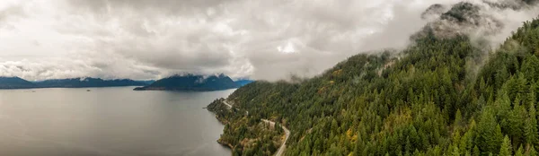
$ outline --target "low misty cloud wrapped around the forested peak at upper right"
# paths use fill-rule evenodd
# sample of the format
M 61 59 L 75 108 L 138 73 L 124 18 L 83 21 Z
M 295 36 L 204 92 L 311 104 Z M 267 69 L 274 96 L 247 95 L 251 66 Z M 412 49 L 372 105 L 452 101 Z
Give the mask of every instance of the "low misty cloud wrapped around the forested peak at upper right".
M 539 14 L 537 5 L 523 1 L 471 1 L 450 8 L 429 22 L 426 29 L 433 30 L 440 38 L 468 35 L 474 41 L 490 43 L 490 48 L 496 48 L 522 22 Z

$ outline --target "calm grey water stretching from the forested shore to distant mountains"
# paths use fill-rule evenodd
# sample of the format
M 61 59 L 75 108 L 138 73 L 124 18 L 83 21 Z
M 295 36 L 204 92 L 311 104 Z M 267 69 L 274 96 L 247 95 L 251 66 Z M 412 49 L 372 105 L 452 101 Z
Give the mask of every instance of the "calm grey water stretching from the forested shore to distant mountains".
M 203 108 L 234 90 L 132 89 L 0 91 L 0 155 L 230 155 Z

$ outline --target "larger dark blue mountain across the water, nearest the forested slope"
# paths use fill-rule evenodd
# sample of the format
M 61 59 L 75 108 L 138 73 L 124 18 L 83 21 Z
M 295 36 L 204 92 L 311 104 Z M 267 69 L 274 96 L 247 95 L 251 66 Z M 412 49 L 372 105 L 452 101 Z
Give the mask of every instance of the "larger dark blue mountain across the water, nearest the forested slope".
M 239 88 L 249 82 L 243 80 L 234 82 L 225 74 L 219 75 L 174 75 L 158 80 L 145 87 L 138 87 L 135 91 L 219 91 Z

